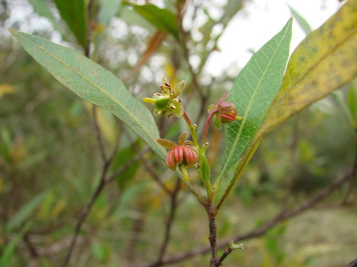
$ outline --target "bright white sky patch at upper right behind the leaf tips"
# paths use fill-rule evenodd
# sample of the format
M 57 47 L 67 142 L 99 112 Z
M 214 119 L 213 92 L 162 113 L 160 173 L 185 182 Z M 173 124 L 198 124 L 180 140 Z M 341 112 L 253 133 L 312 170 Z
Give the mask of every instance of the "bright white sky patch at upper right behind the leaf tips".
M 228 24 L 218 42 L 221 51 L 214 51 L 206 64 L 210 76 L 220 76 L 227 67 L 233 73 L 249 61 L 252 53 L 284 27 L 291 17 L 287 4 L 305 18 L 313 29 L 318 28 L 339 7 L 337 0 L 252 0 L 244 11 L 240 11 Z M 294 20 L 290 53 L 305 38 L 305 34 Z

